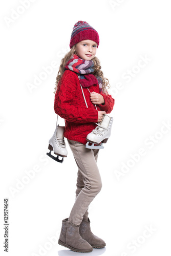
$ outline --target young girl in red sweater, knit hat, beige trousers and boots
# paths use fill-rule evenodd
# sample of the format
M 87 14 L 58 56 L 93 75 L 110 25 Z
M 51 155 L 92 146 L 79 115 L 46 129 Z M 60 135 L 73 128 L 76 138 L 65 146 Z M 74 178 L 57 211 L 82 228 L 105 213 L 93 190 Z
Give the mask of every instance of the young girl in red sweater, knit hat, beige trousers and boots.
M 65 118 L 63 135 L 78 166 L 76 200 L 69 218 L 62 221 L 58 243 L 77 252 L 91 252 L 93 248 L 105 246 L 105 242 L 91 232 L 88 218 L 88 207 L 102 186 L 97 167 L 99 150 L 85 146 L 87 135 L 97 126 L 95 123 L 114 106 L 114 99 L 106 91 L 109 80 L 103 76 L 100 61 L 95 57 L 98 46 L 97 31 L 87 22 L 78 21 L 71 34 L 71 50 L 61 60 L 56 77 L 54 110 Z M 99 225 L 101 218 L 98 217 Z

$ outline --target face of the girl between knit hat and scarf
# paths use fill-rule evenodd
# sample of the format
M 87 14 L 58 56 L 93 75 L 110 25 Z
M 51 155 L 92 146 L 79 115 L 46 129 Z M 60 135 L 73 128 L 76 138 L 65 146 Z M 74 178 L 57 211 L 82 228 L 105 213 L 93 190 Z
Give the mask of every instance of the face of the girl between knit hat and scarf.
M 76 44 L 76 54 L 84 60 L 91 60 L 95 57 L 97 43 L 92 40 L 82 40 Z

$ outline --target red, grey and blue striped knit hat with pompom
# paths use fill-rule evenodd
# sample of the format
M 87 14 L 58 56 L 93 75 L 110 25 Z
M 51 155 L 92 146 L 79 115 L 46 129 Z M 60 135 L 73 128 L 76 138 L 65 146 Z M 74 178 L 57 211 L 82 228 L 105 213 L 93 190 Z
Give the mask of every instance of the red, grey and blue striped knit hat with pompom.
M 90 39 L 97 43 L 97 48 L 99 46 L 99 35 L 97 31 L 92 28 L 87 22 L 82 22 L 79 20 L 75 23 L 70 40 L 70 49 L 73 45 L 77 44 L 82 40 Z

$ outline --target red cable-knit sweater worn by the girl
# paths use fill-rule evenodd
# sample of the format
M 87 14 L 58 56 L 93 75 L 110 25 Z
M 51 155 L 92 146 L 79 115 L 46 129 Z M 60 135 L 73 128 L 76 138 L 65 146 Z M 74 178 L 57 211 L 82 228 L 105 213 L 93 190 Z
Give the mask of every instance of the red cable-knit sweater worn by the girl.
M 99 86 L 89 87 L 90 92 L 99 93 Z M 111 95 L 100 93 L 104 97 L 104 104 L 99 104 L 97 110 L 90 99 L 90 92 L 83 88 L 84 95 L 88 104 L 84 102 L 79 78 L 73 71 L 66 70 L 59 80 L 55 93 L 54 110 L 60 117 L 65 118 L 64 136 L 69 140 L 87 143 L 86 137 L 95 129 L 98 120 L 98 111 L 110 113 L 113 110 L 115 100 Z

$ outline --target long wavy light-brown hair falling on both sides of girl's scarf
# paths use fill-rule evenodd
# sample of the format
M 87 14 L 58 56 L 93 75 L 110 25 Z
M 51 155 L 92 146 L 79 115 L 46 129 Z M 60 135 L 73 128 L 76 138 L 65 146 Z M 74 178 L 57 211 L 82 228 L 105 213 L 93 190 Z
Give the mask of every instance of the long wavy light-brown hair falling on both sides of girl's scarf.
M 76 45 L 74 45 L 71 48 L 71 50 L 61 59 L 59 71 L 58 71 L 57 77 L 56 77 L 56 82 L 55 82 L 56 87 L 54 88 L 55 89 L 54 93 L 56 93 L 59 80 L 60 80 L 63 72 L 65 71 L 66 63 L 69 61 L 69 59 L 71 59 L 73 54 L 76 54 L 75 52 L 76 52 Z M 103 72 L 101 71 L 100 60 L 97 57 L 94 57 L 92 60 L 94 61 L 94 67 L 93 67 L 94 71 L 92 72 L 92 74 L 95 77 L 97 77 L 97 76 L 101 77 L 102 93 L 108 95 L 107 89 L 110 88 L 110 83 L 109 83 L 108 78 L 104 77 Z

